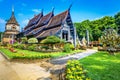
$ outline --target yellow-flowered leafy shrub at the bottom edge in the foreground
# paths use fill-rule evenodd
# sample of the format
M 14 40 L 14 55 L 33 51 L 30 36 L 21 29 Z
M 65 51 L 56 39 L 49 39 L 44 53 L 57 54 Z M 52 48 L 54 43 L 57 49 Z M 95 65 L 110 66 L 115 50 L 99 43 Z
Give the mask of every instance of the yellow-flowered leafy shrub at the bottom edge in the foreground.
M 66 80 L 91 80 L 77 60 L 68 61 L 66 68 Z

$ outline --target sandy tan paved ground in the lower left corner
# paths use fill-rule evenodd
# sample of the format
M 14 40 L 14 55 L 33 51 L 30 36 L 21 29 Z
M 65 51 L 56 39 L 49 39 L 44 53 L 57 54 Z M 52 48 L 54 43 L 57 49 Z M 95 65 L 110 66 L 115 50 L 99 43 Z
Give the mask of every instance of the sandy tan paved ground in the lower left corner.
M 50 72 L 41 68 L 39 63 L 9 62 L 0 53 L 0 80 L 40 80 L 49 76 Z

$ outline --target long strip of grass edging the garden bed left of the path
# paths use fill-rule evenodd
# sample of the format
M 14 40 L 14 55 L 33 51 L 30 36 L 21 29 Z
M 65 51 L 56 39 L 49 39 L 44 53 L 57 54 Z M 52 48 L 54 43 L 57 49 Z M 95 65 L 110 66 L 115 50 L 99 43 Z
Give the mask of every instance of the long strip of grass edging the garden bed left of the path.
M 42 52 L 35 52 L 35 51 L 21 50 L 21 49 L 15 49 L 15 50 L 17 50 L 17 52 L 13 53 L 8 49 L 0 48 L 0 51 L 2 51 L 10 59 L 57 58 L 57 57 L 62 57 L 62 56 L 66 56 L 68 54 L 73 54 L 73 53 L 77 53 L 77 52 L 82 51 L 82 50 L 75 50 L 75 51 L 71 51 L 70 53 L 66 53 L 66 52 L 42 53 Z

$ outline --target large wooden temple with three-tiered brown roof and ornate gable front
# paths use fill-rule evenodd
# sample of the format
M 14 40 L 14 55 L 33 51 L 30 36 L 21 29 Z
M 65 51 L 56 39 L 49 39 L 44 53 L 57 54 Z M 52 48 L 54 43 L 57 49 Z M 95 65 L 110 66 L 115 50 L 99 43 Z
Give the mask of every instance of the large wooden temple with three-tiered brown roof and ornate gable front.
M 71 19 L 70 8 L 57 15 L 54 15 L 54 9 L 46 15 L 43 15 L 42 10 L 29 20 L 23 33 L 27 38 L 35 37 L 38 41 L 54 35 L 76 45 L 76 29 Z

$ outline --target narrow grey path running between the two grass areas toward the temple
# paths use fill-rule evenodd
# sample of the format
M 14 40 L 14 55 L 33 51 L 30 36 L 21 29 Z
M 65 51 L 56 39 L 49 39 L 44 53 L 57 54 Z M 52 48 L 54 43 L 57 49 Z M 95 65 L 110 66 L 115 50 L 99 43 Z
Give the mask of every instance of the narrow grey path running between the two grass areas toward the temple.
M 97 50 L 87 49 L 87 51 L 85 51 L 85 52 L 74 54 L 74 55 L 70 55 L 70 56 L 63 57 L 63 58 L 53 59 L 50 62 L 52 64 L 62 65 L 62 64 L 65 64 L 68 60 L 81 59 L 81 58 L 84 58 L 84 57 L 89 56 L 91 54 L 94 54 L 96 52 L 97 52 Z

